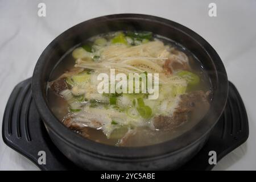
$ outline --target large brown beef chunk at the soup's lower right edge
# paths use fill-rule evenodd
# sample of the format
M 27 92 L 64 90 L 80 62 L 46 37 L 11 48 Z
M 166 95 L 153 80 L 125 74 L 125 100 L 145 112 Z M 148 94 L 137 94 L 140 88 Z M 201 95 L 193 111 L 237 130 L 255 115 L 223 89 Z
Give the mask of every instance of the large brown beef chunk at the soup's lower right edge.
M 154 118 L 156 129 L 170 130 L 187 122 L 188 119 L 201 119 L 209 110 L 209 102 L 203 91 L 193 91 L 180 96 L 179 106 L 174 114 L 169 116 L 159 115 Z

